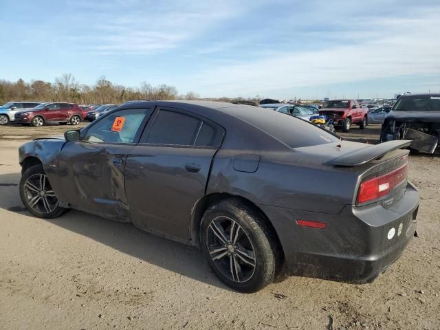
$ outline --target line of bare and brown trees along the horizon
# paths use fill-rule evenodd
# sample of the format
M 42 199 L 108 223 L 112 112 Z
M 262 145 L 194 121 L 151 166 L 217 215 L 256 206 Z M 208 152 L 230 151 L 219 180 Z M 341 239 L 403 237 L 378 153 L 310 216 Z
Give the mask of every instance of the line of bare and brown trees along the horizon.
M 41 102 L 73 102 L 78 104 L 122 104 L 129 100 L 198 100 L 199 94 L 190 91 L 180 95 L 176 87 L 170 85 L 156 85 L 143 82 L 138 87 L 116 85 L 104 76 L 96 80 L 94 85 L 80 84 L 72 74 L 63 74 L 55 79 L 54 83 L 43 80 L 23 79 L 17 82 L 0 80 L 0 104 L 15 101 Z M 225 102 L 259 102 L 255 98 L 218 98 Z

